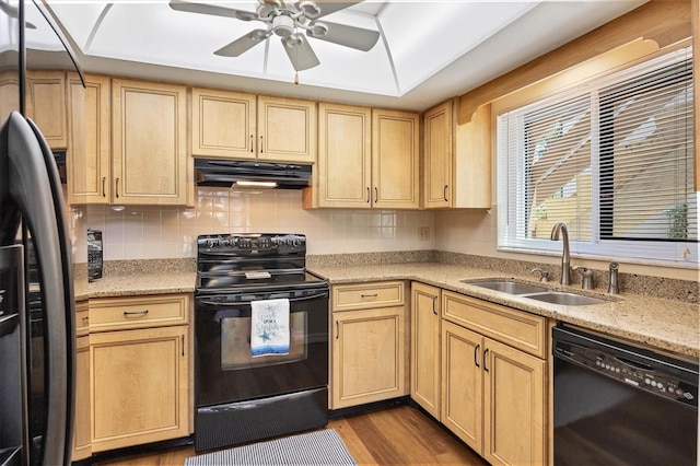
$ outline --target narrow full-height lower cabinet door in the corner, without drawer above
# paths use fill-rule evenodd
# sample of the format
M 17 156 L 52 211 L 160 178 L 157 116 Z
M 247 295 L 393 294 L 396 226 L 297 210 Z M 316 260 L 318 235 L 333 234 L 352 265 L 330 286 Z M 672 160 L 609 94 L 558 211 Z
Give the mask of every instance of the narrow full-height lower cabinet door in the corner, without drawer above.
M 440 419 L 440 289 L 411 283 L 411 398 Z

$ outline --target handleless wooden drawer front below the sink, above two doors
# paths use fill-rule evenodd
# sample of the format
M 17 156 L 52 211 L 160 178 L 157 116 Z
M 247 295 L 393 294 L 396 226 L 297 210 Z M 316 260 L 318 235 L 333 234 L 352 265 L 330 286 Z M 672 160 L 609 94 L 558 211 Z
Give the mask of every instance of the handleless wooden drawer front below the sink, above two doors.
M 451 291 L 443 292 L 443 317 L 502 343 L 546 359 L 547 319 Z

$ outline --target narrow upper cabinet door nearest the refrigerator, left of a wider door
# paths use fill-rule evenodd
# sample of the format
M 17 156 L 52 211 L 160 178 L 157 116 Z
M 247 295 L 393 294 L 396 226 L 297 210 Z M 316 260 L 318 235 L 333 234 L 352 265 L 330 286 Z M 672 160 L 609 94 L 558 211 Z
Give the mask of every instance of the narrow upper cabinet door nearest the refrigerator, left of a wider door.
M 109 203 L 110 94 L 109 78 L 86 75 L 85 88 L 69 77 L 70 144 L 68 199 L 70 203 Z

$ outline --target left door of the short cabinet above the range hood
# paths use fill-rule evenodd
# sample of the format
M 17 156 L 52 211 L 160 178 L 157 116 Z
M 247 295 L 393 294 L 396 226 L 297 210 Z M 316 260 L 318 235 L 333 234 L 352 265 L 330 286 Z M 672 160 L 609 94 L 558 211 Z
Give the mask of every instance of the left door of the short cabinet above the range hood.
M 255 159 L 255 95 L 192 89 L 192 154 Z

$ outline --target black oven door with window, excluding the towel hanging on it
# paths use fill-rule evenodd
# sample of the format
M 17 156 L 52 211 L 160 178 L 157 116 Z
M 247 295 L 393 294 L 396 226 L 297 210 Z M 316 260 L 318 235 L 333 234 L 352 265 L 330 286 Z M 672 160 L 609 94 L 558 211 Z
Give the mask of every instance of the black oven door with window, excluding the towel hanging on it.
M 289 353 L 254 357 L 250 302 L 289 300 Z M 328 288 L 198 294 L 195 312 L 197 407 L 328 385 Z

